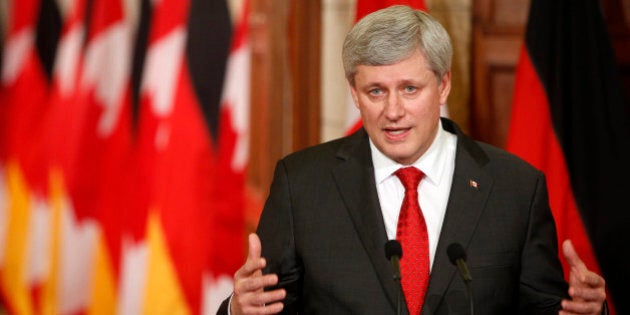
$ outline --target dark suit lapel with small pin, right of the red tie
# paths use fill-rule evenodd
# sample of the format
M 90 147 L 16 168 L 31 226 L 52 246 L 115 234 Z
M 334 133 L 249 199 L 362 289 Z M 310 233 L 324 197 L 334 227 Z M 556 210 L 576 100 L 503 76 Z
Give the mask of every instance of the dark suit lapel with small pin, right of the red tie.
M 453 184 L 431 270 L 425 311 L 427 308 L 436 310 L 443 302 L 445 292 L 457 273 L 448 259 L 446 249 L 452 243 L 460 243 L 465 249 L 468 248 L 493 185 L 492 178 L 481 168 L 488 159 L 481 148 L 463 135 L 452 122 L 443 120 L 443 123 L 445 129 L 457 134 L 457 153 Z

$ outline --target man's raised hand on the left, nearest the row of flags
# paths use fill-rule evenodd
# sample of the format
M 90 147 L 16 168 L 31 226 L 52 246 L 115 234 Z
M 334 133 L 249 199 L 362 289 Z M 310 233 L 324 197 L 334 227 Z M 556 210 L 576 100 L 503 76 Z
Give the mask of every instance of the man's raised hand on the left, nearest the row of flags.
M 265 292 L 264 288 L 278 283 L 275 274 L 263 275 L 267 262 L 261 255 L 262 246 L 258 235 L 249 235 L 247 261 L 234 274 L 234 295 L 230 305 L 232 315 L 276 314 L 282 311 L 286 291 L 277 289 Z

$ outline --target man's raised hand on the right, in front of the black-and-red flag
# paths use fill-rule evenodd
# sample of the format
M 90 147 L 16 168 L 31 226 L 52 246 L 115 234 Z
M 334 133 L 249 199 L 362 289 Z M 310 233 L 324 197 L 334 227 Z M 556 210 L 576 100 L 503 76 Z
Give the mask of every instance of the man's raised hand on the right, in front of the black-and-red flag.
M 604 278 L 588 270 L 570 240 L 562 243 L 562 252 L 571 268 L 569 275 L 571 300 L 562 301 L 560 315 L 601 314 L 606 299 Z

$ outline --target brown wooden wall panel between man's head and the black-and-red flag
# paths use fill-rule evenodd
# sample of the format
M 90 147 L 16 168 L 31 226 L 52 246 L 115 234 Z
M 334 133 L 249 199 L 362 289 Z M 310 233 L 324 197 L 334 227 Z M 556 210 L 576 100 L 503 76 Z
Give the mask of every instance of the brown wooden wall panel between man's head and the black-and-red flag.
M 529 0 L 479 0 L 473 5 L 471 135 L 499 147 L 509 128 L 514 70 Z

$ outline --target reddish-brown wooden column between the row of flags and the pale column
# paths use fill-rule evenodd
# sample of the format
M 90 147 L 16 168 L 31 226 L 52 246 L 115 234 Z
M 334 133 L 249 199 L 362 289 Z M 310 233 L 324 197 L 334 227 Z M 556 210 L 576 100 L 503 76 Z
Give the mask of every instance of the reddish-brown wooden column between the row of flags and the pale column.
M 319 142 L 320 0 L 250 0 L 250 162 L 258 221 L 278 159 Z

